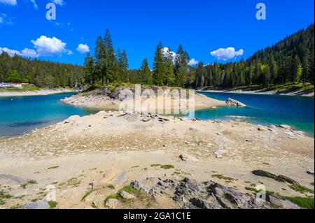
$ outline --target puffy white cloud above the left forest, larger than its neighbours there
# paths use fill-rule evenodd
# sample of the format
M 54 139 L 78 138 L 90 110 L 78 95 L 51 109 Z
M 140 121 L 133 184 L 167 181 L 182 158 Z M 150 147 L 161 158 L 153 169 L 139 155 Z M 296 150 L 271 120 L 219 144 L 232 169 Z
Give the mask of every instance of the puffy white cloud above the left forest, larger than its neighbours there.
M 31 43 L 34 44 L 38 57 L 62 55 L 62 53 L 72 54 L 71 50 L 66 49 L 66 43 L 63 43 L 56 37 L 41 36 L 36 41 L 32 40 Z

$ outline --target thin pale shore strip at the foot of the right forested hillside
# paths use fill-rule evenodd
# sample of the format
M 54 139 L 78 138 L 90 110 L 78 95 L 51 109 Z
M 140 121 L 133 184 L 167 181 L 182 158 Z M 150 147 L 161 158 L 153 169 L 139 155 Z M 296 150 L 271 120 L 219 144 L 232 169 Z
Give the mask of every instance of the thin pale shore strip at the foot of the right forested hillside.
M 265 91 L 265 90 L 205 90 L 205 91 L 200 91 L 200 92 L 214 92 L 214 93 L 237 93 L 237 94 L 278 94 L 278 95 L 291 95 L 291 96 L 313 96 L 314 97 L 314 92 L 276 92 L 276 91 Z

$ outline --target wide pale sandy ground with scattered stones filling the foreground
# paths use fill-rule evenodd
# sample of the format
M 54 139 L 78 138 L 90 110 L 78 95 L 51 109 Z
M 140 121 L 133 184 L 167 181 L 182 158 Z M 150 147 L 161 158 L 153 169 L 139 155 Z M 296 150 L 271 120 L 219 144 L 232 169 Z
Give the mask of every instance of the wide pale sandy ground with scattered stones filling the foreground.
M 314 138 L 300 131 L 151 114 L 102 111 L 0 138 L 0 160 L 0 181 L 1 174 L 36 180 L 25 188 L 0 182 L 0 190 L 13 195 L 0 208 L 43 199 L 47 185 L 57 189 L 57 208 L 180 208 L 167 192 L 162 199 L 116 201 L 114 206 L 104 199 L 132 180 L 151 177 L 212 180 L 244 193 L 252 193 L 245 187 L 264 185 L 285 196 L 311 194 L 251 171 L 286 175 L 308 188 L 314 182 L 307 173 L 314 170 Z

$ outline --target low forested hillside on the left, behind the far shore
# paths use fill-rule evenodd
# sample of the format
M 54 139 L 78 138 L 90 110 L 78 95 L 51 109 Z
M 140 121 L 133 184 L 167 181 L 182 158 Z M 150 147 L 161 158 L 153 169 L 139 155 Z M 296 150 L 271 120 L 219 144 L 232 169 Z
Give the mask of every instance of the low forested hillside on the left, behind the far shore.
M 74 87 L 83 67 L 0 54 L 0 82 L 27 82 L 38 87 Z

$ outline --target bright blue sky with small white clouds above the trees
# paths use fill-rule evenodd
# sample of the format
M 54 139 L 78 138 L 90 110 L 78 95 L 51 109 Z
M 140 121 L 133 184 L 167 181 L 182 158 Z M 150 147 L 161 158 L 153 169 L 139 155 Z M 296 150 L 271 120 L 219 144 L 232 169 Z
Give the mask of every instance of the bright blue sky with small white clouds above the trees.
M 49 21 L 45 6 L 53 1 L 57 20 Z M 259 2 L 267 20 L 255 18 Z M 93 52 L 109 28 L 131 69 L 146 57 L 152 66 L 159 41 L 174 51 L 181 43 L 192 59 L 208 64 L 246 59 L 313 22 L 313 0 L 0 0 L 0 50 L 83 64 L 83 52 Z

